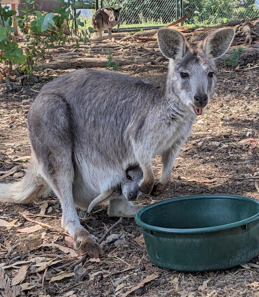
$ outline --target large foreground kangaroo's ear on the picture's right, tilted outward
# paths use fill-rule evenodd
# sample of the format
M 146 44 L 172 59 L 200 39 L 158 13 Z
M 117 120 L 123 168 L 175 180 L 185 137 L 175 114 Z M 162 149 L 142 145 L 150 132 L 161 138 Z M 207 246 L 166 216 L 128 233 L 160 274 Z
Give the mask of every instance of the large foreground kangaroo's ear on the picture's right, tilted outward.
M 235 36 L 235 30 L 232 28 L 221 28 L 203 41 L 203 51 L 210 58 L 218 58 L 226 53 Z

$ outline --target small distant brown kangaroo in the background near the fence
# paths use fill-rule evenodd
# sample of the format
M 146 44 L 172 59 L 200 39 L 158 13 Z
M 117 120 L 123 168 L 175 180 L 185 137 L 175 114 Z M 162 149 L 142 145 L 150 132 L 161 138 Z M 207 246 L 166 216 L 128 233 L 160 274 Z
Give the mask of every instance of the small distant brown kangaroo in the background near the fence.
M 99 8 L 93 15 L 92 24 L 94 30 L 93 38 L 102 36 L 102 31 L 108 29 L 108 35 L 112 32 L 118 32 L 120 24 L 122 22 L 120 11 L 122 7 L 115 9 L 113 7 L 102 7 Z M 114 26 L 118 26 L 116 31 L 113 31 Z

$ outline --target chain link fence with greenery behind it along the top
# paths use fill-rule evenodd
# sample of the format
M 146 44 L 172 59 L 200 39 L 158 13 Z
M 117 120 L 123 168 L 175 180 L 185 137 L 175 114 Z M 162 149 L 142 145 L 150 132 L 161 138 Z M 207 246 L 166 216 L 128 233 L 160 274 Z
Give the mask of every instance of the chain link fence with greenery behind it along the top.
M 184 26 L 212 26 L 259 17 L 259 0 L 101 0 L 99 7 L 123 6 L 121 31 L 159 28 L 193 12 Z

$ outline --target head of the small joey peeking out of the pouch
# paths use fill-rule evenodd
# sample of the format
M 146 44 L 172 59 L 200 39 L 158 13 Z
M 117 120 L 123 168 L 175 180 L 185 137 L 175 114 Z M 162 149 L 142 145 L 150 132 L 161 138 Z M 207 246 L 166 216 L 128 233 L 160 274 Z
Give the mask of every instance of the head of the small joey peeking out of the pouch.
M 123 196 L 129 201 L 136 200 L 141 192 L 139 191 L 139 183 L 143 179 L 143 171 L 137 165 L 130 165 L 126 169 L 126 178 L 123 183 L 121 183 L 121 189 Z

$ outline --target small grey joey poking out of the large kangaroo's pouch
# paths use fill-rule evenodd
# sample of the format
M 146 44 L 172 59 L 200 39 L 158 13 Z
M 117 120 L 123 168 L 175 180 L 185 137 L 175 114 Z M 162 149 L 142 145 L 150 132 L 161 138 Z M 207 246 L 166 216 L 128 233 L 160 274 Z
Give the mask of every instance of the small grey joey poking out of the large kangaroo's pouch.
M 87 212 L 90 213 L 95 205 L 109 199 L 114 192 L 120 194 L 122 193 L 128 201 L 136 200 L 141 195 L 141 192 L 139 191 L 139 183 L 142 178 L 143 172 L 139 166 L 129 166 L 126 169 L 125 180 L 122 183 L 118 184 L 116 187 L 102 192 L 99 196 L 97 196 L 88 206 Z M 112 210 L 110 209 L 110 213 L 111 212 Z

